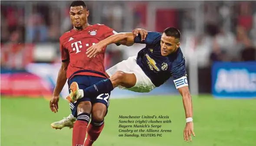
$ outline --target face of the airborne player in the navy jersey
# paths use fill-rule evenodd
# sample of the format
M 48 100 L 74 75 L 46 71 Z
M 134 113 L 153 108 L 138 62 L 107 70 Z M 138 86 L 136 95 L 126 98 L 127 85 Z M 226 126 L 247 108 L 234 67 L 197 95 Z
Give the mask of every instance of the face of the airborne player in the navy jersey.
M 166 36 L 166 34 L 163 33 L 160 44 L 161 54 L 163 56 L 167 56 L 175 52 L 179 48 L 181 43 L 179 42 L 178 39 L 175 39 L 172 36 Z

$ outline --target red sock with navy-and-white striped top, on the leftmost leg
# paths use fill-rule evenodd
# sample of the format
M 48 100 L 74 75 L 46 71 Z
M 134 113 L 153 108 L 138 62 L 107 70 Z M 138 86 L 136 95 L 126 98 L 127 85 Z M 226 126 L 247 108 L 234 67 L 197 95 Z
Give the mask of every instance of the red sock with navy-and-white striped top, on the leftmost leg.
M 85 136 L 87 132 L 87 125 L 89 116 L 87 113 L 82 113 L 78 116 L 77 121 L 74 123 L 73 135 L 72 135 L 72 146 L 83 146 L 85 142 Z M 86 120 L 85 120 L 86 119 Z

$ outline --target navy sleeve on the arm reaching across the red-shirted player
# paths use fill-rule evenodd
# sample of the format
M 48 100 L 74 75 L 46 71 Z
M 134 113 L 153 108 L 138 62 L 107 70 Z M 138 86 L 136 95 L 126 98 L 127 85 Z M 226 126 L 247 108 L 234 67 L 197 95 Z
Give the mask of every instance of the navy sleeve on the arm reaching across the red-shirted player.
M 141 35 L 138 34 L 138 36 L 134 38 L 134 42 L 139 44 L 153 45 L 161 40 L 161 36 L 162 33 L 160 32 L 148 32 L 146 39 L 141 41 Z

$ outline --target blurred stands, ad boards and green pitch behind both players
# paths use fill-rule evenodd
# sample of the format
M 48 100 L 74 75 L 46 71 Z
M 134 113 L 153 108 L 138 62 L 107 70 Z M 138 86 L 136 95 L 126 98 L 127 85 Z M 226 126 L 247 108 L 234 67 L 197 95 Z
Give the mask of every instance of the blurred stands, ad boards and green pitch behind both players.
M 70 114 L 68 103 L 61 100 L 57 114 L 48 106 L 61 63 L 59 36 L 72 29 L 70 3 L 1 1 L 1 146 L 71 145 L 72 130 L 50 127 Z M 105 129 L 94 146 L 255 146 L 255 1 L 86 3 L 90 24 L 102 23 L 117 32 L 180 29 L 197 135 L 193 143 L 183 141 L 183 104 L 170 79 L 148 94 L 115 89 Z M 142 47 L 109 45 L 106 69 Z M 66 86 L 62 97 L 67 94 Z M 118 116 L 129 114 L 167 114 L 172 123 L 163 127 L 172 133 L 118 137 Z

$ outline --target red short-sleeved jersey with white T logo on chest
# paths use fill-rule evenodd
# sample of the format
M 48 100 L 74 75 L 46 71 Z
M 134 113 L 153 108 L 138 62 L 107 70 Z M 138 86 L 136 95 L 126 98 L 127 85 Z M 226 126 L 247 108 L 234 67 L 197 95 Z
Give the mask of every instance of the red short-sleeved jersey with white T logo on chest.
M 85 52 L 90 46 L 115 33 L 113 29 L 102 24 L 88 26 L 82 31 L 72 29 L 69 32 L 65 32 L 59 38 L 59 42 L 62 62 L 69 61 L 67 78 L 70 79 L 74 75 L 91 75 L 106 78 L 104 66 L 106 47 L 103 49 L 103 53 L 92 58 L 87 57 Z

